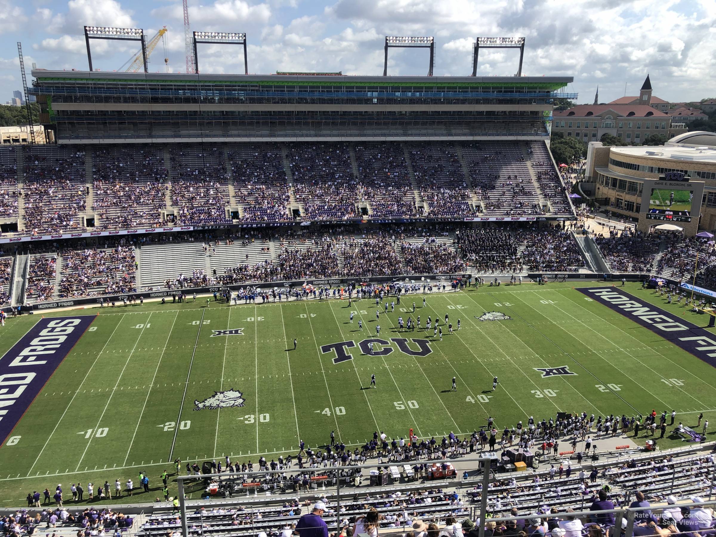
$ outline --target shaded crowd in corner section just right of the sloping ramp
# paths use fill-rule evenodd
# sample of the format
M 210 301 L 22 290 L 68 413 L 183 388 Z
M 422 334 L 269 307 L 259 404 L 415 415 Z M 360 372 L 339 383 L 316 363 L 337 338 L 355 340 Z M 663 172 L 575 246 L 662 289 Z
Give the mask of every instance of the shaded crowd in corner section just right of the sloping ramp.
M 651 272 L 661 243 L 658 237 L 648 236 L 641 231 L 634 233 L 630 228 L 621 234 L 610 230 L 609 237 L 599 235 L 594 241 L 609 263 L 609 268 L 615 272 Z

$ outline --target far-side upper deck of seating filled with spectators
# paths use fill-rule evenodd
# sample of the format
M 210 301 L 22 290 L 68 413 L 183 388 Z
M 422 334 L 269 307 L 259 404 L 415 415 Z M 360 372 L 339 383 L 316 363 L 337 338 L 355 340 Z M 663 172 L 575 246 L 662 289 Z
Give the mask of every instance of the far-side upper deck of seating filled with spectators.
M 309 221 L 572 213 L 536 142 L 0 148 L 0 218 L 18 219 L 19 234 L 284 222 L 296 211 Z

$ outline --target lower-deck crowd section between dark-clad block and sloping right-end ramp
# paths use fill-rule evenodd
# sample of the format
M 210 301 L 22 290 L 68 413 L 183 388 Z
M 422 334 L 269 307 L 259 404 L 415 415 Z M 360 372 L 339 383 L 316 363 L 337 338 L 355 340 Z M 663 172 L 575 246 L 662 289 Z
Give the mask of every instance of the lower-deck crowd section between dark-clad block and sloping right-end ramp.
M 574 237 L 558 226 L 519 231 L 517 236 L 525 244 L 520 261 L 530 271 L 576 272 L 585 266 Z

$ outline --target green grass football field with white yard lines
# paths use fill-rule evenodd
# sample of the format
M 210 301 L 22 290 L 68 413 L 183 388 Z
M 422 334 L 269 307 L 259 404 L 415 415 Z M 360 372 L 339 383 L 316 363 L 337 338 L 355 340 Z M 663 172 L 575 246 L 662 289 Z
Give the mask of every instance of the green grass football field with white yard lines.
M 685 311 L 636 284 L 627 291 L 672 314 Z M 174 458 L 271 460 L 296 453 L 299 439 L 324 445 L 332 430 L 355 445 L 374 430 L 396 437 L 410 427 L 420 437 L 468 433 L 488 415 L 503 427 L 559 411 L 631 416 L 652 408 L 675 409 L 687 425 L 703 411 L 716 424 L 716 369 L 571 284 L 432 294 L 425 308 L 422 296 L 405 296 L 395 313 L 381 314 L 380 337 L 426 337 L 396 332 L 398 316 L 407 317 L 400 308 L 412 309 L 413 301 L 423 326 L 428 315 L 441 325 L 445 314 L 453 326 L 461 319 L 453 335 L 442 325 L 443 340 L 430 344 L 427 357 L 403 354 L 395 344 L 387 356 L 362 354 L 359 342 L 375 334 L 374 301 L 350 308 L 340 300 L 205 308 L 200 299 L 46 313 L 99 315 L 15 427 L 16 440 L 0 448 L 0 501 L 24 505 L 28 492 L 54 492 L 57 483 L 66 491 L 77 481 L 136 483 L 140 470 L 153 490 L 131 500 L 152 501 L 160 495 L 158 476 L 173 471 Z M 511 319 L 478 321 L 485 311 Z M 38 318 L 9 319 L 1 352 Z M 212 330 L 237 328 L 243 335 L 212 337 Z M 319 349 L 349 340 L 356 343 L 349 361 L 334 364 L 334 354 Z M 542 378 L 533 369 L 565 365 L 576 374 Z M 362 390 L 372 373 L 377 388 Z M 493 376 L 500 379 L 494 392 Z M 452 377 L 457 392 L 450 390 Z M 226 390 L 241 391 L 244 406 L 194 410 L 195 400 Z M 682 442 L 661 442 L 674 445 Z

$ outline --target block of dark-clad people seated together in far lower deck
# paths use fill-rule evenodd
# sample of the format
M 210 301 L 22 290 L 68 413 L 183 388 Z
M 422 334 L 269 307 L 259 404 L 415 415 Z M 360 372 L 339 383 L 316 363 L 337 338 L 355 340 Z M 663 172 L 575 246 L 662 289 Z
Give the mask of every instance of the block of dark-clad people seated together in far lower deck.
M 509 230 L 464 229 L 457 238 L 460 253 L 470 269 L 492 274 L 517 274 L 522 271 L 518 244 Z

